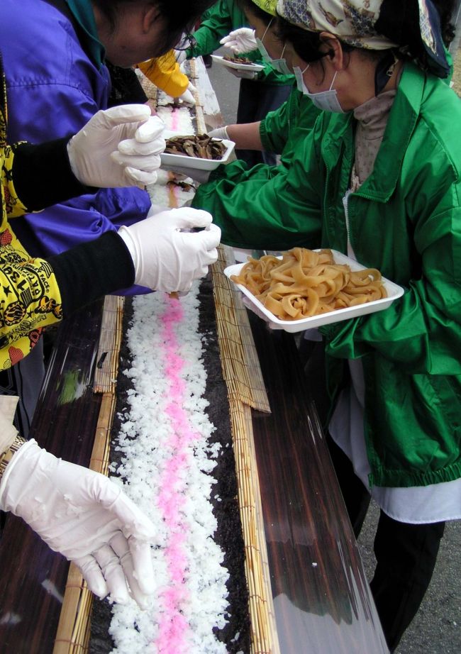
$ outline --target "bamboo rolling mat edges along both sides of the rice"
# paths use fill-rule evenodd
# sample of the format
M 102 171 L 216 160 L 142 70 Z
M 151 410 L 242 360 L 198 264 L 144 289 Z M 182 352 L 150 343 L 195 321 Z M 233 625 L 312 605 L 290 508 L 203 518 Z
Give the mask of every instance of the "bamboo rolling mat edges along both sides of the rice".
M 203 70 L 198 70 L 194 60 L 189 62 L 189 66 L 194 84 L 201 75 L 207 77 L 203 64 Z M 146 77 L 143 77 L 141 83 L 148 98 L 157 101 L 157 87 Z M 206 123 L 199 93 L 196 101 L 194 121 L 197 133 L 201 133 L 206 131 Z M 221 365 L 228 387 L 238 501 L 245 543 L 251 653 L 279 654 L 251 419 L 251 408 L 270 412 L 270 406 L 245 306 L 240 294 L 223 274 L 224 268 L 234 263 L 233 253 L 226 246 L 220 246 L 218 250 L 219 258 L 212 271 L 213 294 Z M 94 377 L 94 392 L 102 394 L 102 404 L 89 466 L 91 470 L 105 475 L 109 464 L 110 431 L 116 402 L 122 318 L 123 298 L 107 296 Z M 71 564 L 53 654 L 87 653 L 91 604 L 91 592 L 77 567 Z

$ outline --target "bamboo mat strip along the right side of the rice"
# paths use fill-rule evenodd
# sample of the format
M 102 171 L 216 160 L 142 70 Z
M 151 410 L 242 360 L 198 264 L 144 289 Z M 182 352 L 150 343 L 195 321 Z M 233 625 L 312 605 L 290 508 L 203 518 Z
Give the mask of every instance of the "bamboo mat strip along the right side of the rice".
M 230 248 L 220 245 L 213 265 L 216 324 L 223 377 L 229 396 L 238 504 L 245 542 L 245 570 L 250 595 L 252 654 L 278 654 L 269 565 L 257 475 L 251 408 L 270 411 L 246 309 L 224 268 L 233 263 Z

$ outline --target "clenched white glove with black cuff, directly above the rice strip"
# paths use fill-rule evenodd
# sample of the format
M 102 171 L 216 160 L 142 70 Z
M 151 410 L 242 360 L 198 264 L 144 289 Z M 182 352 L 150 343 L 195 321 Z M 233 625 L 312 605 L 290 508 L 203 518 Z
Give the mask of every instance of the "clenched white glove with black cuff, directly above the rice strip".
M 188 292 L 194 279 L 204 277 L 218 258 L 221 230 L 201 209 L 181 207 L 161 211 L 118 234 L 135 266 L 135 284 L 168 293 Z M 194 228 L 204 228 L 193 232 Z

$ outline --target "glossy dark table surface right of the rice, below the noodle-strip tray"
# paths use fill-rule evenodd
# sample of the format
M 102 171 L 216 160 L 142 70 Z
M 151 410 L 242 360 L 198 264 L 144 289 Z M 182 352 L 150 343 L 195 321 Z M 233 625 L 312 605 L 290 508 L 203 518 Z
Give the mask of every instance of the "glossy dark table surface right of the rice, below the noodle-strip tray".
M 250 322 L 272 410 L 252 423 L 281 653 L 385 653 L 294 337 Z

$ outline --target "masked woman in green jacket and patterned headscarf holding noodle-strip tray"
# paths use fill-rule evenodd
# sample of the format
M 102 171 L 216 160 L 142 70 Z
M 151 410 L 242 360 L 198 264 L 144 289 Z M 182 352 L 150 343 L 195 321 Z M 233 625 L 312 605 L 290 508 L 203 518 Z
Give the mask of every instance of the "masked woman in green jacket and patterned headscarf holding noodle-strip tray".
M 287 174 L 236 186 L 218 170 L 213 214 L 224 243 L 333 248 L 405 288 L 386 311 L 320 330 L 356 533 L 370 494 L 381 508 L 371 587 L 394 650 L 445 521 L 461 517 L 461 102 L 440 79 L 449 67 L 430 0 L 279 0 L 277 10 L 287 61 L 323 111 Z M 200 192 L 195 205 L 207 206 Z

